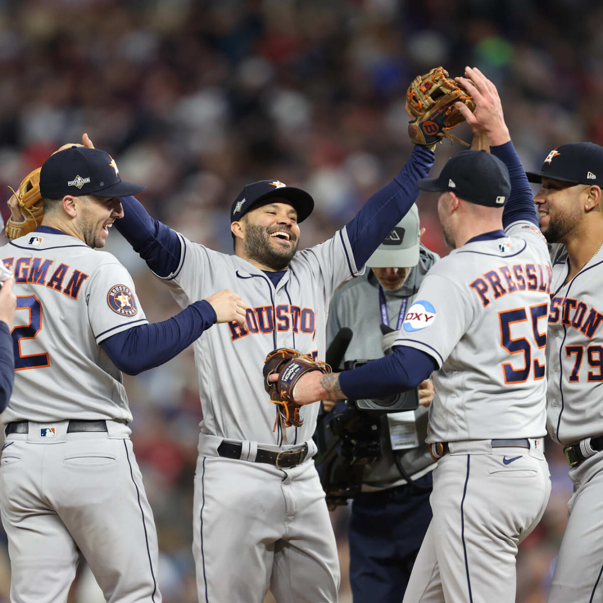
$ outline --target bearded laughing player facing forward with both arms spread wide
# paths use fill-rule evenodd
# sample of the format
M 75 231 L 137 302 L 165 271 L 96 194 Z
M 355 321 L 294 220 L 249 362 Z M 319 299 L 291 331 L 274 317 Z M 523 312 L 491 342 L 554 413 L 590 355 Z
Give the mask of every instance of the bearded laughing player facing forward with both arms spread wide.
M 199 600 L 336 601 L 335 538 L 311 459 L 318 405 L 286 427 L 262 368 L 291 347 L 324 358 L 329 301 L 418 195 L 433 154 L 415 147 L 393 182 L 321 245 L 297 251 L 314 206 L 305 191 L 260 180 L 232 204 L 235 254 L 188 241 L 126 198 L 119 231 L 171 288 L 180 305 L 216 286 L 241 292 L 246 323 L 223 324 L 195 343 L 203 421 L 195 475 L 193 552 Z M 227 284 L 228 283 L 228 284 Z

